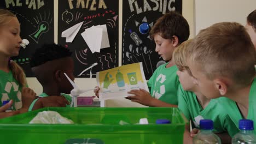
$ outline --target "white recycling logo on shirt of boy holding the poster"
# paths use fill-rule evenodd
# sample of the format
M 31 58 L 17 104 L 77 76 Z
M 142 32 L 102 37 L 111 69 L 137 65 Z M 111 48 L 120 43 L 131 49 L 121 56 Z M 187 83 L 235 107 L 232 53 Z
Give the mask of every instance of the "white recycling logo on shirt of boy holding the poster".
M 155 88 L 153 91 L 154 98 L 159 99 L 162 96 L 162 94 L 165 93 L 165 84 L 164 84 L 165 80 L 166 80 L 166 76 L 163 74 L 160 74 L 158 78 L 156 78 Z

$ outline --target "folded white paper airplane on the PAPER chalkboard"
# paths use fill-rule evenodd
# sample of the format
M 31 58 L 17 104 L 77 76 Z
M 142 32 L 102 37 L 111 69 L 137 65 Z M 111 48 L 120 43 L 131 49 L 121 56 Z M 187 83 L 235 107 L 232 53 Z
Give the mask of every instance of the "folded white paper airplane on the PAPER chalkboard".
M 66 38 L 66 43 L 72 43 L 82 25 L 83 22 L 80 22 L 74 25 L 73 27 L 66 29 L 61 33 L 61 37 Z

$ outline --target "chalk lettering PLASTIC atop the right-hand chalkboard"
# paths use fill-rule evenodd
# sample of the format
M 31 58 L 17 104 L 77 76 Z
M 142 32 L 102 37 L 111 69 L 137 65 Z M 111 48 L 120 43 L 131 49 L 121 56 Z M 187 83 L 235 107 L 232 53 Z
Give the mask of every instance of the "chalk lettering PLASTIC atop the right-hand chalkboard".
M 141 0 L 139 0 L 139 1 L 141 1 Z M 149 1 L 151 3 L 155 3 L 154 8 L 150 7 Z M 133 4 L 135 5 L 137 14 L 140 14 L 140 13 L 146 12 L 146 11 L 151 11 L 151 10 L 153 10 L 153 11 L 159 10 L 159 12 L 162 12 L 162 14 L 165 14 L 167 8 L 168 8 L 168 11 L 175 11 L 174 2 L 175 2 L 175 0 L 144 0 L 143 10 L 142 10 L 142 7 L 139 7 L 136 0 L 129 0 L 129 5 L 130 5 L 131 12 L 134 11 Z

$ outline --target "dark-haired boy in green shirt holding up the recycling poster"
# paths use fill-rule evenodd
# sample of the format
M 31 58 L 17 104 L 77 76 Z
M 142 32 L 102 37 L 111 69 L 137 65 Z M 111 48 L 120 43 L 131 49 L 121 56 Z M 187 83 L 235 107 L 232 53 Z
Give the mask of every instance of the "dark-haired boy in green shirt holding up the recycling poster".
M 160 17 L 150 31 L 155 41 L 155 51 L 168 61 L 158 67 L 148 81 L 150 94 L 144 89 L 130 91 L 132 101 L 147 106 L 178 105 L 177 89 L 179 86 L 178 70 L 172 61 L 172 53 L 179 44 L 189 38 L 189 25 L 181 14 L 170 12 Z

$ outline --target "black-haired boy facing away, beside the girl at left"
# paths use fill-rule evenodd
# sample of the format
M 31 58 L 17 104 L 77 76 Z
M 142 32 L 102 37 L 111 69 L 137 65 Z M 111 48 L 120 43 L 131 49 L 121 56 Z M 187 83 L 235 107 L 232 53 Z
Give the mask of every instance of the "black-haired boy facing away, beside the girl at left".
M 37 80 L 43 86 L 43 93 L 40 97 L 48 97 L 49 95 L 62 95 L 69 103 L 71 97 L 68 95 L 73 86 L 64 75 L 74 80 L 74 62 L 71 52 L 61 45 L 44 44 L 36 50 L 31 58 L 31 68 Z M 67 94 L 65 94 L 67 93 Z M 37 100 L 34 100 L 29 111 L 43 107 Z

